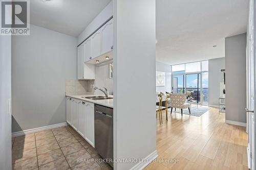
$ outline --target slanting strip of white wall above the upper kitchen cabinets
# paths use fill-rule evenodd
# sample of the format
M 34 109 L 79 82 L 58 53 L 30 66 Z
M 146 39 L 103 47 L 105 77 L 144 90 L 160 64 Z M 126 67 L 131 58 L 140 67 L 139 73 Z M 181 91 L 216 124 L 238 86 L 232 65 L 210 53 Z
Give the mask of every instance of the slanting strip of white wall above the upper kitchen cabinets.
M 77 44 L 80 44 L 84 39 L 91 35 L 102 23 L 108 20 L 113 15 L 113 1 L 111 1 L 87 26 L 86 29 L 77 37 Z

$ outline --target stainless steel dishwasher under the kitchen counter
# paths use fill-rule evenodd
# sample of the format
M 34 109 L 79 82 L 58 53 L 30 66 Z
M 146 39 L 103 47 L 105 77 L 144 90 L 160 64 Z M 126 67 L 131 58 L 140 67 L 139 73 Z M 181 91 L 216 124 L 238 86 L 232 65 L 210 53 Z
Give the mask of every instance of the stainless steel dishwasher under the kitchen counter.
M 104 159 L 113 160 L 113 109 L 94 105 L 95 150 Z M 113 167 L 113 163 L 109 163 Z

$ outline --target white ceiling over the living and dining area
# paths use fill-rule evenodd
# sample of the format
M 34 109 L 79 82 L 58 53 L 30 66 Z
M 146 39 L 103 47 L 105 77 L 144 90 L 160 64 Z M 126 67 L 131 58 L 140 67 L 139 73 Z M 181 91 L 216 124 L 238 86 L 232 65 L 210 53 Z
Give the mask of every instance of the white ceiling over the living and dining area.
M 246 32 L 247 12 L 248 0 L 157 0 L 156 60 L 225 57 L 225 37 Z

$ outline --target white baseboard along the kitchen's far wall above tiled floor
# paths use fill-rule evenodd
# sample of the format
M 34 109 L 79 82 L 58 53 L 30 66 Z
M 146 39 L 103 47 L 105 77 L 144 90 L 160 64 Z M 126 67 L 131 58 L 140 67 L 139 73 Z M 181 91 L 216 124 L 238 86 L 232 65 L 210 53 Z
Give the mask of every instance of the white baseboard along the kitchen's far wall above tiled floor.
M 40 127 L 40 128 L 34 128 L 34 129 L 28 129 L 28 130 L 24 130 L 24 131 L 14 132 L 14 133 L 12 133 L 12 137 L 26 135 L 29 133 L 35 133 L 35 132 L 39 132 L 39 131 L 45 131 L 45 130 L 54 129 L 54 128 L 60 128 L 62 126 L 67 126 L 67 123 L 65 122 L 65 123 L 60 123 L 60 124 L 55 124 L 55 125 L 44 126 L 44 127 Z

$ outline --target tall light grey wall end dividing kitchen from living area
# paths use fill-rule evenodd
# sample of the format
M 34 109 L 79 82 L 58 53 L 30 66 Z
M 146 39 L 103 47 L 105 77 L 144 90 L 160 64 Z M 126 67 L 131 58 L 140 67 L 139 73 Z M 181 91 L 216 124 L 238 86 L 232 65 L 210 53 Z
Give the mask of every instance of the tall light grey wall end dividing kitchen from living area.
M 156 154 L 155 3 L 114 0 L 114 158 Z

